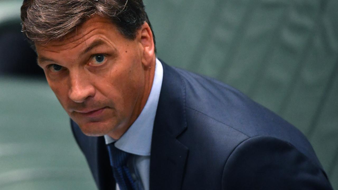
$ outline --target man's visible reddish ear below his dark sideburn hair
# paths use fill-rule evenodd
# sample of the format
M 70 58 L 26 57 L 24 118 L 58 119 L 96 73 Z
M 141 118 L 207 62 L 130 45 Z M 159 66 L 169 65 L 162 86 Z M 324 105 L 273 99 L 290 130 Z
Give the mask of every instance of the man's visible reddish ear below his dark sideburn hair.
M 155 45 L 150 26 L 144 22 L 138 32 L 138 39 L 142 46 L 142 63 L 145 67 L 151 67 L 155 60 Z

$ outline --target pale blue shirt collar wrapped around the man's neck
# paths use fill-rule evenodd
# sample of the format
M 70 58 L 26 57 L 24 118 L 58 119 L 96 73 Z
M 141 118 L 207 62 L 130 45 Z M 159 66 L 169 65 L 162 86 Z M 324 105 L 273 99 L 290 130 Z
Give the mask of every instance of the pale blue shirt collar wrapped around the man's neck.
M 115 147 L 125 152 L 140 156 L 150 156 L 151 136 L 154 127 L 157 104 L 163 79 L 163 66 L 156 58 L 155 75 L 148 100 L 135 122 L 121 136 L 115 140 L 108 135 L 104 136 L 106 144 L 115 142 Z

